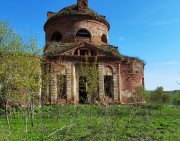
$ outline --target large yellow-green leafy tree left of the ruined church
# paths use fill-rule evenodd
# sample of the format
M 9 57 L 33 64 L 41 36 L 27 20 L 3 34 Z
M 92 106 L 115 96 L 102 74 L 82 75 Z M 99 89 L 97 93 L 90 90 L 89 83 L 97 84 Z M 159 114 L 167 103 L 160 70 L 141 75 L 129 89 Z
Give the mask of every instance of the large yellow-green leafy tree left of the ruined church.
M 11 107 L 32 107 L 34 97 L 39 96 L 39 52 L 34 37 L 25 42 L 7 22 L 0 21 L 0 98 L 6 109 L 9 129 Z

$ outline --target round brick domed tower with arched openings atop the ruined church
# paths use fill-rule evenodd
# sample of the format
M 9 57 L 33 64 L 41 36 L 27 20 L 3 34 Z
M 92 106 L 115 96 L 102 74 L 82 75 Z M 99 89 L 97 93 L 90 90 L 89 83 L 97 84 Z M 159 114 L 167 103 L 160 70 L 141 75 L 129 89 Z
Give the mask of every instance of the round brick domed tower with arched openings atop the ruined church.
M 46 42 L 89 42 L 107 44 L 110 26 L 105 16 L 88 8 L 87 0 L 78 0 L 77 5 L 68 6 L 58 13 L 48 12 L 44 26 Z

